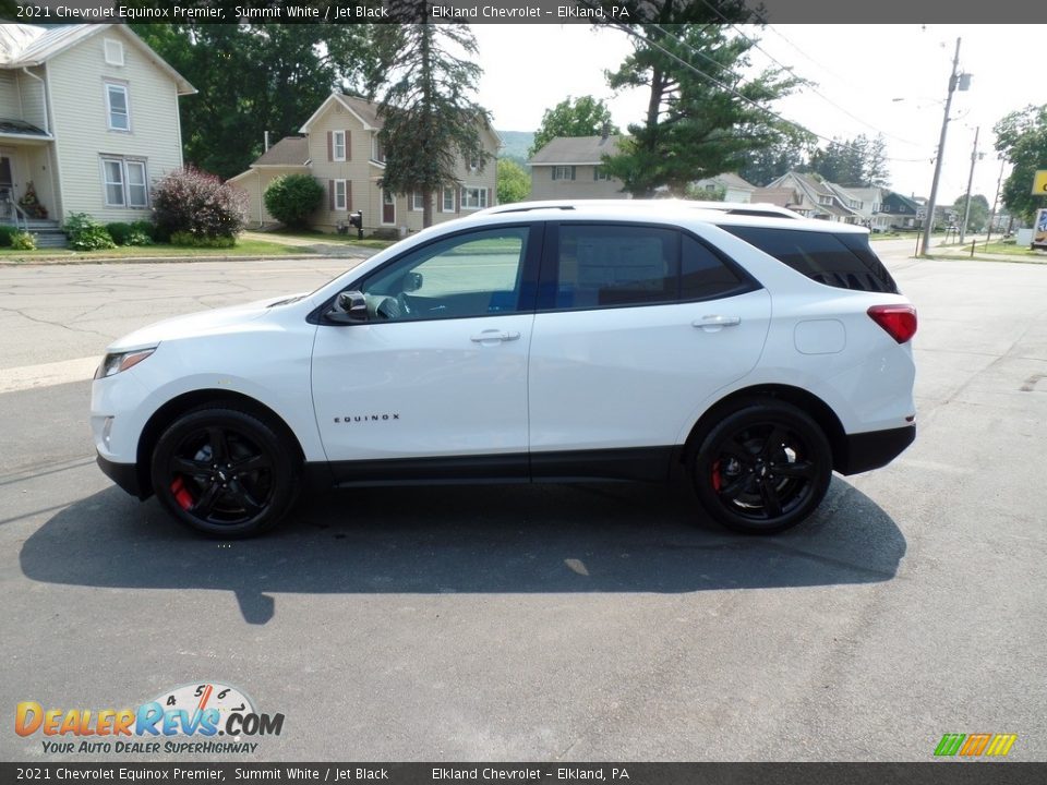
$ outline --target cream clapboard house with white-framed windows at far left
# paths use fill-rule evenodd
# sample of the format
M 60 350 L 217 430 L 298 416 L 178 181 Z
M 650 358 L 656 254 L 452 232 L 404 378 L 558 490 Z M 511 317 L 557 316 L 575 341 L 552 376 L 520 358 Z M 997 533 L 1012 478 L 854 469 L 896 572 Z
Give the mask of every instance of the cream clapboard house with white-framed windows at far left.
M 124 25 L 0 25 L 0 222 L 148 220 L 195 92 Z

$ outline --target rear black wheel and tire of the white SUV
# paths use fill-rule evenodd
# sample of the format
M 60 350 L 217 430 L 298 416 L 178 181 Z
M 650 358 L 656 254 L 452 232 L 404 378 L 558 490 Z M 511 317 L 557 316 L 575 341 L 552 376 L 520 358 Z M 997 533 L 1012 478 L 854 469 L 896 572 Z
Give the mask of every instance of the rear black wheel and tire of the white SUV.
M 774 534 L 814 512 L 832 479 L 832 449 L 818 423 L 773 398 L 739 401 L 714 416 L 687 466 L 717 522 L 743 534 Z

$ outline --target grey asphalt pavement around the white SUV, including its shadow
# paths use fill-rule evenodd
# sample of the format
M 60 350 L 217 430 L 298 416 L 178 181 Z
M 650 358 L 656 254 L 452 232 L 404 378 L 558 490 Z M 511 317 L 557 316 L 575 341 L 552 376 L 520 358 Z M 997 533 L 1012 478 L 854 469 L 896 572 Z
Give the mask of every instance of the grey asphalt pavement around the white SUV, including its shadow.
M 285 715 L 253 760 L 1047 760 L 1047 265 L 901 244 L 917 440 L 770 539 L 625 485 L 353 490 L 201 539 L 96 468 L 94 365 L 347 261 L 0 267 L 0 759 L 92 759 L 17 736 L 20 701 L 209 683 Z

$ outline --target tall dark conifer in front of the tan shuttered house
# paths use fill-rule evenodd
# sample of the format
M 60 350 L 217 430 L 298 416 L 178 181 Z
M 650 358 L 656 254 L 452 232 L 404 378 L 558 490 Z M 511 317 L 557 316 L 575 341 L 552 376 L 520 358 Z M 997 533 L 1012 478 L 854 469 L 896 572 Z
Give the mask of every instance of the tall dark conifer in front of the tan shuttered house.
M 490 118 L 471 98 L 481 74 L 477 41 L 468 25 L 422 23 L 375 25 L 374 43 L 370 92 L 381 95 L 381 184 L 393 193 L 421 192 L 428 227 L 432 194 L 459 182 L 457 156 L 479 169 L 489 157 L 480 131 Z

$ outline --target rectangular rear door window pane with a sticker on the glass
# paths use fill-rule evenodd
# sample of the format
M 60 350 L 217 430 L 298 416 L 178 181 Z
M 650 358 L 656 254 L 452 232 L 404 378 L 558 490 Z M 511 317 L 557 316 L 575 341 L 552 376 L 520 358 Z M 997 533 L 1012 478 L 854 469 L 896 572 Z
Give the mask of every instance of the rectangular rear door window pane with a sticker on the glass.
M 657 227 L 562 225 L 556 307 L 671 302 L 678 234 Z

